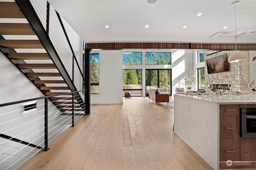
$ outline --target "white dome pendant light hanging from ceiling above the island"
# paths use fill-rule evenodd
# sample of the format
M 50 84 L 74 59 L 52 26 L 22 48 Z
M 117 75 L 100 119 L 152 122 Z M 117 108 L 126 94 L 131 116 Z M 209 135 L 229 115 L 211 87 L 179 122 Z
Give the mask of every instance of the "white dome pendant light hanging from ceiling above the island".
M 233 2 L 231 5 L 235 6 L 235 28 L 236 28 L 236 5 L 239 4 L 239 1 Z M 231 54 L 228 57 L 228 63 L 238 62 L 240 60 L 248 60 L 249 57 L 245 53 L 238 53 L 237 52 L 237 44 L 236 44 L 236 53 Z

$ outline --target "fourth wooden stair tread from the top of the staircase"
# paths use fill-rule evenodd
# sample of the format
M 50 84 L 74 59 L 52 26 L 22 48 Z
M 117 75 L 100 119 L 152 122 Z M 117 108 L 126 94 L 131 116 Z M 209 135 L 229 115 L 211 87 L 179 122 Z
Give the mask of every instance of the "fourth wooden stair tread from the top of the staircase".
M 20 60 L 50 60 L 47 53 L 8 53 L 8 57 Z

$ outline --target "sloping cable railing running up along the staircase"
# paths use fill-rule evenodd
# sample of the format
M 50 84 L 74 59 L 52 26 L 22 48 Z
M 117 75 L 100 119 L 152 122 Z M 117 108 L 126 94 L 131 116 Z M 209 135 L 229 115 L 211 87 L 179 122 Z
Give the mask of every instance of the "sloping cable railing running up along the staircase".
M 60 60 L 60 63 L 65 68 L 65 71 L 68 74 L 69 79 L 72 81 L 75 90 L 83 90 L 84 77 L 80 68 L 82 64 L 79 64 L 76 59 L 72 44 L 69 41 L 66 29 L 62 23 L 62 18 L 47 2 L 47 0 L 27 1 L 36 13 L 38 22 L 40 23 L 39 25 L 41 25 L 45 35 L 48 37 L 51 45 L 54 47 L 58 60 Z M 76 34 L 73 29 L 68 29 L 68 31 L 71 32 L 71 34 Z M 74 37 L 72 38 L 74 39 Z M 76 38 L 75 41 L 80 42 L 81 40 L 80 38 Z M 81 92 L 79 94 L 83 96 Z M 83 97 L 81 99 L 84 101 Z

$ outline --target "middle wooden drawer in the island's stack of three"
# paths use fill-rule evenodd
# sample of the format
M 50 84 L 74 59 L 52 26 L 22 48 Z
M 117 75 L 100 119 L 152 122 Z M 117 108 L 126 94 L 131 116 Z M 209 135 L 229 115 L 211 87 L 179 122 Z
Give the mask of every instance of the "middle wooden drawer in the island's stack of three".
M 239 119 L 239 116 L 220 116 L 220 139 L 240 138 Z

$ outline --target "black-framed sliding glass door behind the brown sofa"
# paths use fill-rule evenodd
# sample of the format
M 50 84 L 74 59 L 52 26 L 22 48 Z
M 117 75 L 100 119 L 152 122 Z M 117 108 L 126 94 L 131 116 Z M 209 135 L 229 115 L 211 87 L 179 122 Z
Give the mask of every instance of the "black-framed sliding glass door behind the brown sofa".
M 171 69 L 146 69 L 146 96 L 148 90 L 166 88 L 172 95 L 172 70 Z

